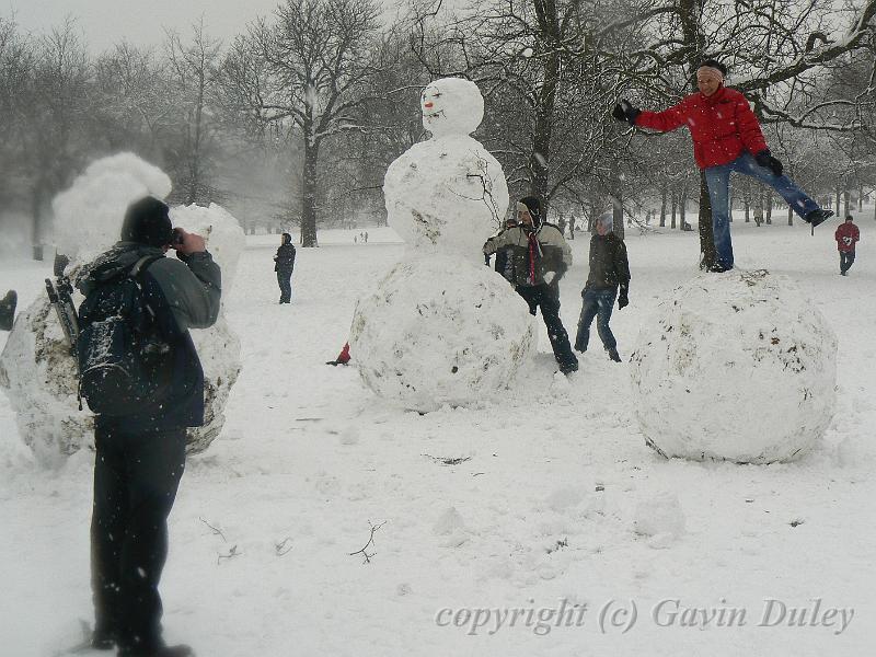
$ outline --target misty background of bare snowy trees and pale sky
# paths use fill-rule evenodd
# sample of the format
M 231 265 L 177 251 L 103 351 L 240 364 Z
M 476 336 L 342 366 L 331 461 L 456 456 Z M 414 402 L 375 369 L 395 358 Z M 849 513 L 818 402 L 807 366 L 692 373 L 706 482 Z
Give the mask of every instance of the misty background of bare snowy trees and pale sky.
M 705 56 L 728 64 L 792 177 L 854 211 L 876 187 L 875 16 L 876 0 L 14 0 L 0 253 L 50 255 L 53 197 L 119 151 L 168 172 L 171 203 L 218 203 L 247 232 L 316 245 L 320 228 L 380 226 L 387 166 L 428 137 L 419 91 L 445 76 L 479 83 L 474 137 L 569 237 L 606 208 L 619 231 L 689 229 L 708 211 L 690 137 L 611 108 L 677 102 Z M 794 221 L 751 181 L 733 194 L 746 221 Z

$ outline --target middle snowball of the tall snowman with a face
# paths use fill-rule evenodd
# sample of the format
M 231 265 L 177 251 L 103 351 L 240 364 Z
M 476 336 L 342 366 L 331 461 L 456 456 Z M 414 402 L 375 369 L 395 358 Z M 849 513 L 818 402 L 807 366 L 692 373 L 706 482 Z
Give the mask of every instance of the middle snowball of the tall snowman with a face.
M 417 252 L 482 260 L 508 209 L 502 164 L 464 135 L 415 143 L 387 170 L 387 220 Z

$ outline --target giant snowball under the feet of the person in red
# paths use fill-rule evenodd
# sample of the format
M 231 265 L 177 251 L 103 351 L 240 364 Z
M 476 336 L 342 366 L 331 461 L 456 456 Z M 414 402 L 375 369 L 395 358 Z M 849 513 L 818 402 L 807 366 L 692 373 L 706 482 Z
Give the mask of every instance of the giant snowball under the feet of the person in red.
M 703 275 L 644 325 L 632 380 L 642 433 L 660 454 L 791 461 L 833 415 L 837 337 L 787 278 Z

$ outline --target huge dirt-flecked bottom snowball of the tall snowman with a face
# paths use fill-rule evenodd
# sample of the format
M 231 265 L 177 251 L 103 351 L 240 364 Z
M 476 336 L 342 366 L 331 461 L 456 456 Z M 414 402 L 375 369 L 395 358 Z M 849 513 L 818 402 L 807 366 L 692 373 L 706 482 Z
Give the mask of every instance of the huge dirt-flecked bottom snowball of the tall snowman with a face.
M 420 412 L 491 396 L 534 349 L 532 316 L 508 283 L 441 255 L 395 265 L 359 300 L 350 328 L 365 383 Z

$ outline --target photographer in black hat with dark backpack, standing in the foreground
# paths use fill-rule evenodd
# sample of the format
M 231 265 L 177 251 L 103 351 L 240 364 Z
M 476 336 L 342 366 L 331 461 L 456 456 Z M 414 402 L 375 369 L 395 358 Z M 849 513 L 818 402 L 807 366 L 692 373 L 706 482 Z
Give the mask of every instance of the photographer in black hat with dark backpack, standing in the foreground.
M 77 281 L 80 388 L 95 414 L 92 646 L 116 645 L 119 657 L 192 655 L 164 644 L 158 587 L 186 427 L 204 424 L 204 370 L 188 330 L 216 322 L 221 273 L 204 238 L 172 229 L 168 212 L 151 196 L 132 203 L 122 241 Z

